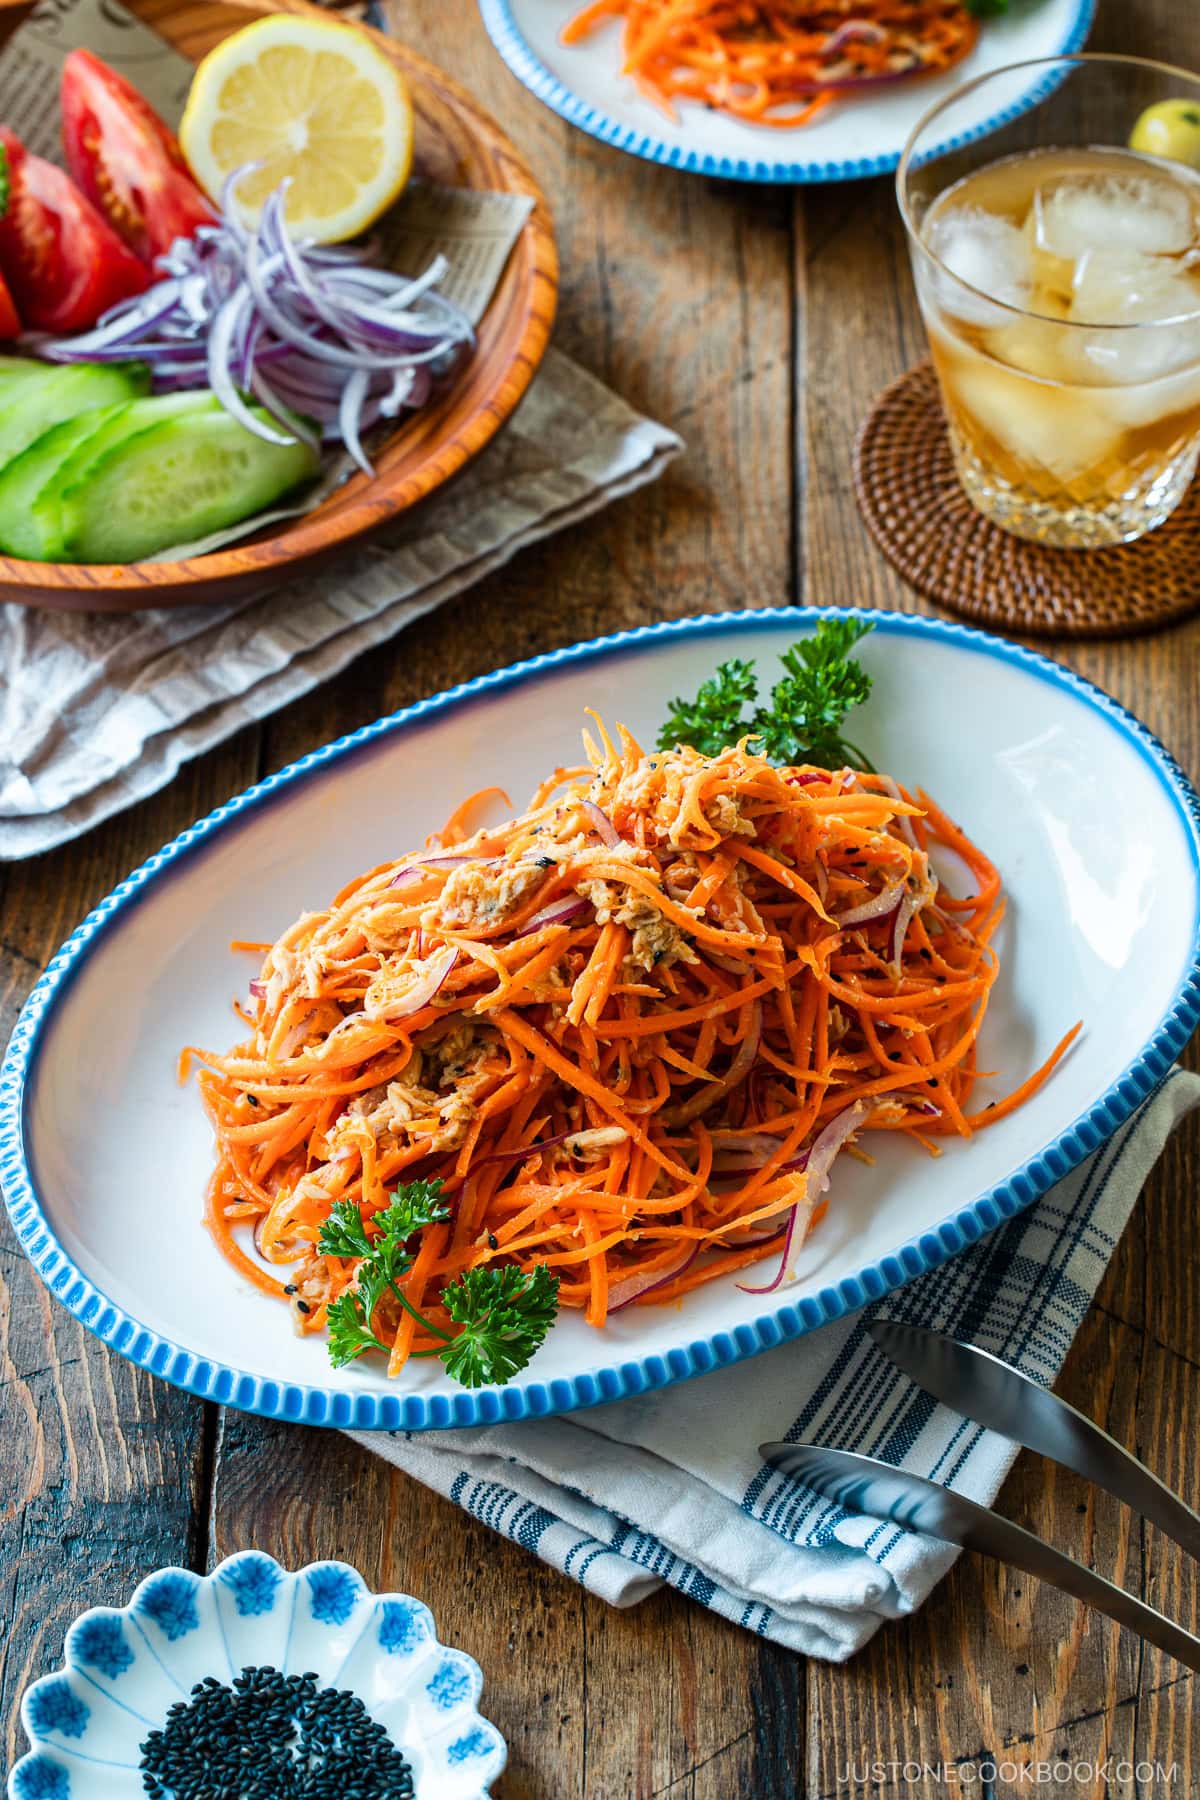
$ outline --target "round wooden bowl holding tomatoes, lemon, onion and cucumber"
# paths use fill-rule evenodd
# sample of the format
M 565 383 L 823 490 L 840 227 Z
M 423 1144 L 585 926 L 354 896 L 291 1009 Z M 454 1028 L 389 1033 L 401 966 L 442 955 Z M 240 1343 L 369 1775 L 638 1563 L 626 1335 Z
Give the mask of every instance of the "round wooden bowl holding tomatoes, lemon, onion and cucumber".
M 126 4 L 194 63 L 230 32 L 266 13 L 322 16 L 306 0 Z M 11 29 L 11 14 L 4 23 Z M 0 556 L 0 599 L 70 612 L 139 612 L 266 592 L 311 571 L 450 481 L 515 410 L 545 351 L 558 299 L 554 229 L 542 189 L 495 119 L 450 76 L 394 38 L 367 25 L 354 29 L 367 31 L 408 77 L 417 175 L 453 187 L 529 194 L 534 202 L 479 322 L 471 356 L 443 394 L 410 414 L 374 450 L 374 479 L 353 475 L 311 513 L 182 562 L 36 563 Z

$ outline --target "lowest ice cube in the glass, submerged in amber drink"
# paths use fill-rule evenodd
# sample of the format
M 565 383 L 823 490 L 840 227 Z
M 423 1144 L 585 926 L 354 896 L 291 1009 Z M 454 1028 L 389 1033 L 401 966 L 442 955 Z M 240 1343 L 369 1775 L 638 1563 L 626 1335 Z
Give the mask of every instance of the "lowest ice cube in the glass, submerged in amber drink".
M 1051 387 L 975 358 L 954 374 L 959 405 L 1011 455 L 1061 482 L 1085 475 L 1121 441 L 1106 394 Z

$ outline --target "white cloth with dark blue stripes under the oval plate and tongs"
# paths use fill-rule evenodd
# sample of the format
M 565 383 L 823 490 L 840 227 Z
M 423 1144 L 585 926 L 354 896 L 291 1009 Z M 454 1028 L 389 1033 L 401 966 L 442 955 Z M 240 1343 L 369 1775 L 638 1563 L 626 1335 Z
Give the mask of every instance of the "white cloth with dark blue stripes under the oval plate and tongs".
M 1200 1076 L 1173 1069 L 1034 1206 L 869 1309 L 966 1337 L 1047 1386 Z M 700 1381 L 563 1418 L 356 1433 L 613 1606 L 662 1582 L 750 1631 L 842 1661 L 912 1613 L 957 1552 L 855 1517 L 763 1467 L 768 1438 L 883 1456 L 990 1505 L 1016 1449 L 937 1406 L 838 1319 Z

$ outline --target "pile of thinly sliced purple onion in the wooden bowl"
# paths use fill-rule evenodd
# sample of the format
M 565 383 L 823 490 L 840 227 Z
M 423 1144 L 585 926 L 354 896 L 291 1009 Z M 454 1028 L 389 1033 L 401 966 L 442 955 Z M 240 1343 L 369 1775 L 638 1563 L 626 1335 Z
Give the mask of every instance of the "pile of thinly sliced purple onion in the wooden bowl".
M 139 356 L 158 389 L 209 387 L 257 437 L 340 439 L 374 473 L 362 434 L 425 405 L 475 340 L 470 320 L 437 293 L 446 263 L 435 257 L 408 277 L 367 266 L 369 250 L 300 243 L 286 225 L 286 184 L 250 230 L 234 200 L 245 173 L 225 185 L 219 225 L 201 225 L 158 257 L 162 281 L 112 308 L 94 331 L 34 347 L 54 362 Z M 246 396 L 275 423 L 252 412 Z

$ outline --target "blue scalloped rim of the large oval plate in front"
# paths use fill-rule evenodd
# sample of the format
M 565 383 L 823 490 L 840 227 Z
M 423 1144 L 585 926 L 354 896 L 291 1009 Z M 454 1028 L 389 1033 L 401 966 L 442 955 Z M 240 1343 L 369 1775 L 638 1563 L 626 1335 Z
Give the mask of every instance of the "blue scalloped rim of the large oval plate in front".
M 1027 673 L 1065 688 L 1096 707 L 1150 765 L 1171 799 L 1200 864 L 1200 796 L 1169 751 L 1141 720 L 1101 688 L 1096 688 L 1081 675 L 1076 675 L 1074 670 L 1063 668 L 1034 650 L 1025 650 L 1022 644 L 1011 644 L 966 625 L 865 607 L 855 608 L 855 612 L 858 617 L 869 619 L 882 632 L 912 634 L 928 637 L 930 641 L 963 644 L 984 655 L 1015 662 Z M 52 958 L 47 972 L 36 983 L 22 1008 L 4 1064 L 0 1066 L 0 1184 L 4 1186 L 5 1204 L 18 1242 L 59 1303 L 90 1332 L 101 1337 L 103 1343 L 110 1345 L 139 1368 L 149 1370 L 153 1375 L 200 1399 L 218 1400 L 219 1404 L 257 1413 L 264 1418 L 356 1431 L 437 1431 L 459 1426 L 495 1424 L 497 1420 L 543 1418 L 552 1413 L 578 1411 L 608 1400 L 630 1399 L 639 1393 L 649 1393 L 655 1388 L 687 1381 L 693 1375 L 703 1375 L 714 1368 L 757 1355 L 763 1350 L 772 1350 L 775 1345 L 801 1337 L 804 1332 L 817 1330 L 820 1325 L 856 1312 L 869 1301 L 898 1287 L 905 1287 L 919 1274 L 939 1267 L 950 1256 L 979 1242 L 988 1231 L 993 1231 L 1006 1219 L 1015 1217 L 1015 1213 L 1033 1204 L 1056 1181 L 1061 1181 L 1085 1156 L 1090 1156 L 1153 1093 L 1195 1031 L 1196 1022 L 1200 1022 L 1200 904 L 1193 918 L 1191 959 L 1153 1035 L 1101 1098 L 1060 1132 L 1058 1138 L 1022 1163 L 988 1193 L 950 1213 L 936 1229 L 923 1231 L 919 1237 L 901 1244 L 880 1262 L 865 1264 L 853 1276 L 846 1276 L 837 1285 L 824 1287 L 817 1294 L 804 1294 L 795 1305 L 781 1305 L 774 1312 L 765 1312 L 761 1318 L 738 1325 L 729 1332 L 714 1332 L 709 1337 L 693 1339 L 669 1350 L 666 1355 L 655 1354 L 642 1359 L 626 1359 L 606 1368 L 545 1382 L 527 1381 L 509 1382 L 507 1388 L 464 1390 L 453 1397 L 441 1393 L 353 1393 L 345 1390 L 281 1384 L 207 1357 L 198 1357 L 182 1345 L 151 1332 L 108 1300 L 83 1274 L 54 1237 L 25 1156 L 25 1096 L 32 1089 L 38 1046 L 52 1015 L 54 1003 L 65 994 L 72 977 L 95 950 L 97 943 L 103 941 L 106 929 L 117 914 L 135 907 L 149 882 L 164 871 L 178 869 L 227 821 L 255 808 L 270 806 L 293 783 L 306 781 L 363 743 L 372 743 L 392 733 L 403 733 L 407 725 L 417 720 L 432 718 L 479 695 L 516 688 L 536 675 L 576 662 L 597 661 L 613 652 L 640 644 L 662 644 L 664 641 L 682 641 L 687 637 L 720 637 L 736 630 L 777 632 L 781 625 L 802 628 L 811 626 L 822 617 L 842 616 L 844 610 L 833 607 L 775 607 L 718 612 L 693 619 L 644 625 L 630 632 L 615 632 L 606 637 L 590 639 L 588 643 L 570 644 L 547 655 L 531 657 L 525 662 L 515 662 L 509 668 L 495 670 L 491 675 L 480 675 L 475 680 L 450 688 L 428 700 L 419 700 L 401 713 L 380 718 L 372 725 L 363 725 L 349 736 L 336 738 L 333 743 L 311 751 L 290 767 L 281 769 L 279 774 L 266 776 L 255 787 L 246 788 L 245 794 L 225 801 L 207 819 L 189 826 L 171 844 L 149 857 L 133 875 L 128 875 L 106 900 L 101 900 Z

